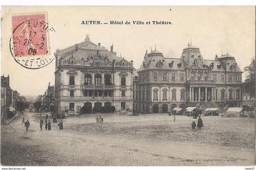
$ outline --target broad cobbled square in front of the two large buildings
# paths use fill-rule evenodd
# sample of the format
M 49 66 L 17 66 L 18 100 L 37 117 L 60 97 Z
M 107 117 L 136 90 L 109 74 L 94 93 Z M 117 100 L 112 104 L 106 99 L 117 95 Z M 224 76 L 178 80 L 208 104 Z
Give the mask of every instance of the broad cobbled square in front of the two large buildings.
M 102 114 L 101 114 L 102 115 Z M 214 166 L 254 165 L 254 119 L 202 117 L 191 130 L 191 117 L 166 114 L 96 115 L 63 119 L 64 130 L 40 130 L 37 113 L 1 126 L 1 165 L 7 166 Z M 58 122 L 60 120 L 58 119 Z M 52 119 L 51 119 L 52 122 Z

